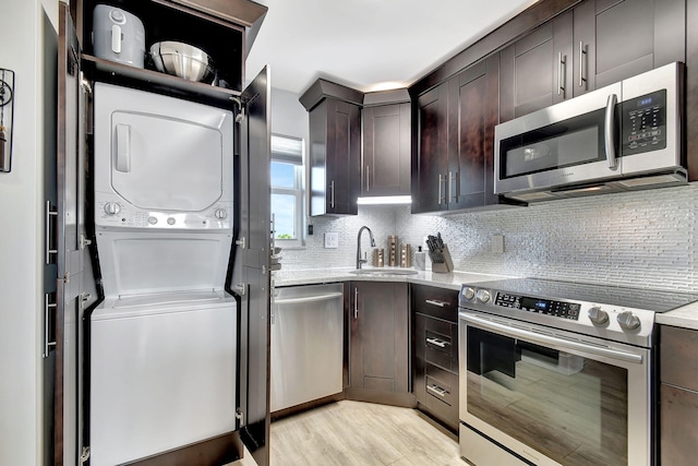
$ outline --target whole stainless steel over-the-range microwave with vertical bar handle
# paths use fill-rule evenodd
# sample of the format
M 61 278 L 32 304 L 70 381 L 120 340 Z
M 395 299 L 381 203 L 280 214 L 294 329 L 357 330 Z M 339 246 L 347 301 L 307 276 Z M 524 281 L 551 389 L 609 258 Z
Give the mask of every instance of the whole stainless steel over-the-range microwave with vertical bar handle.
M 674 62 L 498 124 L 495 193 L 535 202 L 686 183 L 683 86 Z

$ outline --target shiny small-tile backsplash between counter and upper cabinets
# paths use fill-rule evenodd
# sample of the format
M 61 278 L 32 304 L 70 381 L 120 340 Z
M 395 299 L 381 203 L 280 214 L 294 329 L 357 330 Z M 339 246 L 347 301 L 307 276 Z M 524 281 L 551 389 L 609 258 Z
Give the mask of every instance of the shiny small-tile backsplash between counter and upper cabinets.
M 388 235 L 416 251 L 441 231 L 457 271 L 698 292 L 697 211 L 694 184 L 446 216 L 361 205 L 357 216 L 311 217 L 314 235 L 304 249 L 285 250 L 282 263 L 285 270 L 352 267 L 357 234 L 366 225 L 386 254 Z M 339 234 L 338 249 L 324 248 L 326 231 Z M 503 253 L 492 252 L 495 235 L 504 236 Z M 366 234 L 362 251 L 371 264 Z

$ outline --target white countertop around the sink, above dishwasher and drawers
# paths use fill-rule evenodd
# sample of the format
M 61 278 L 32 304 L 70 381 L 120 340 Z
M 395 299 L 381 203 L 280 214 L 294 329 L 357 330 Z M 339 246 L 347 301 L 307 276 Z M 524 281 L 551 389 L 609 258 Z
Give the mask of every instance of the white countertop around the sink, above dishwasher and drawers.
M 294 285 L 315 285 L 321 283 L 335 282 L 401 282 L 413 283 L 419 285 L 431 285 L 440 288 L 448 288 L 460 290 L 460 286 L 465 283 L 480 283 L 494 279 L 507 278 L 502 275 L 478 274 L 472 272 L 452 272 L 448 274 L 433 273 L 432 271 L 416 271 L 412 275 L 389 275 L 390 270 L 398 273 L 410 268 L 400 267 L 364 267 L 370 271 L 388 272 L 386 275 L 361 275 L 352 273 L 356 268 L 325 268 L 325 270 L 304 270 L 304 271 L 285 271 L 274 272 L 274 285 L 276 287 L 294 286 Z M 413 268 L 411 268 L 413 270 Z

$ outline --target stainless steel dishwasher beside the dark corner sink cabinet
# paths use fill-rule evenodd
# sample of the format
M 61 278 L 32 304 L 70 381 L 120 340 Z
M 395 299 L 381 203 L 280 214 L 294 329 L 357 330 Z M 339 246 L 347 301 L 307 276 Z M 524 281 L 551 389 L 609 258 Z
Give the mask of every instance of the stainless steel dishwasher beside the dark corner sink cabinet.
M 276 288 L 272 413 L 342 391 L 342 284 Z

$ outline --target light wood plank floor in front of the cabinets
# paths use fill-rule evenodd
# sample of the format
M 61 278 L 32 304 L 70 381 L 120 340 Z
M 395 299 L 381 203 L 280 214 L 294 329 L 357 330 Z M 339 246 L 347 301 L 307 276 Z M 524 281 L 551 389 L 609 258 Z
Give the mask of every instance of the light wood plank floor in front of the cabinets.
M 419 411 L 350 401 L 273 422 L 270 446 L 272 466 L 467 465 L 457 438 Z

